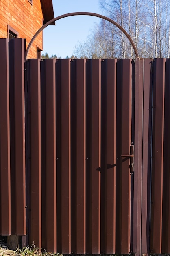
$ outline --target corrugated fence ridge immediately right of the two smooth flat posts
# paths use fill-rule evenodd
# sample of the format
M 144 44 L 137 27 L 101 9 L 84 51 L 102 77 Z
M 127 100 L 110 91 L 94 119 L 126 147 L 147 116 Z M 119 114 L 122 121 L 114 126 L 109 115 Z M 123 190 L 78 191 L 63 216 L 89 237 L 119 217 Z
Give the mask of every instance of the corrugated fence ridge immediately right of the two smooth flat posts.
M 153 155 L 150 251 L 161 253 L 165 59 L 153 62 Z

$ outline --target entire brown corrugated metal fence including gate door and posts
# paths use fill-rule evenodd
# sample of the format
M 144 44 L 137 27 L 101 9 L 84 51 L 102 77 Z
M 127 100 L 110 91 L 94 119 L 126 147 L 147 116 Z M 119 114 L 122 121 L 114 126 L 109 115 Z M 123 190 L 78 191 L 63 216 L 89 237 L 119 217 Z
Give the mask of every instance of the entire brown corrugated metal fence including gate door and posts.
M 169 253 L 170 61 L 24 63 L 23 39 L 0 53 L 0 234 Z

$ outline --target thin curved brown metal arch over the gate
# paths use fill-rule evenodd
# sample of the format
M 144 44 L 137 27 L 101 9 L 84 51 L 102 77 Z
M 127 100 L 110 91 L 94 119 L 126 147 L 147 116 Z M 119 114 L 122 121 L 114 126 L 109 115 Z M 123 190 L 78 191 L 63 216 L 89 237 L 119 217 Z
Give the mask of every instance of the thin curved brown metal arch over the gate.
M 72 12 L 72 13 L 66 13 L 66 14 L 63 14 L 61 16 L 58 16 L 52 20 L 49 20 L 46 24 L 44 24 L 36 33 L 35 35 L 33 36 L 33 38 L 31 39 L 27 49 L 26 49 L 26 58 L 27 58 L 27 55 L 28 55 L 28 52 L 29 52 L 29 49 L 32 45 L 32 43 L 34 42 L 35 38 L 39 35 L 39 33 L 41 31 L 43 31 L 43 29 L 45 29 L 48 25 L 50 25 L 52 22 L 55 22 L 57 20 L 60 20 L 62 18 L 66 18 L 66 17 L 70 17 L 70 16 L 78 16 L 78 15 L 87 15 L 87 16 L 95 16 L 95 17 L 98 17 L 98 18 L 102 18 L 104 20 L 107 20 L 109 22 L 111 22 L 113 25 L 115 25 L 116 27 L 118 27 L 124 34 L 125 36 L 129 39 L 134 51 L 135 51 L 135 55 L 136 55 L 136 58 L 139 58 L 139 54 L 137 52 L 137 48 L 131 38 L 131 36 L 129 36 L 129 34 L 126 32 L 126 30 L 124 30 L 117 22 L 115 22 L 114 20 L 110 19 L 110 18 L 107 18 L 106 16 L 103 16 L 101 14 L 98 14 L 98 13 L 91 13 L 91 12 Z

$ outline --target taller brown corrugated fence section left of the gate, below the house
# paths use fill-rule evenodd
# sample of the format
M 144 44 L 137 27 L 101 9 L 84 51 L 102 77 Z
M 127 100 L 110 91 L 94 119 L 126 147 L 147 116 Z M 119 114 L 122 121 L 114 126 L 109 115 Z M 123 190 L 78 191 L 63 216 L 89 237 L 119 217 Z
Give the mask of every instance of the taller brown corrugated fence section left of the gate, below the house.
M 0 40 L 0 232 L 26 235 L 25 40 Z

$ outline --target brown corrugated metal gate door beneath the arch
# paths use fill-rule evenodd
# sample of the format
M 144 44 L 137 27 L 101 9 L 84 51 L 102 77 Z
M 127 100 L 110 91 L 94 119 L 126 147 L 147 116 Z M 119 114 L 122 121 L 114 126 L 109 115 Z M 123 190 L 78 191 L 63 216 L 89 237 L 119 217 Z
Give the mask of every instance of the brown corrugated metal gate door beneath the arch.
M 131 60 L 28 60 L 25 70 L 30 240 L 63 254 L 129 253 L 121 155 L 131 145 Z

